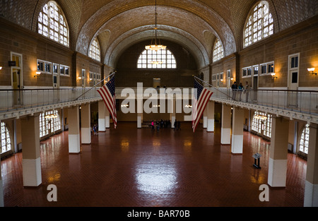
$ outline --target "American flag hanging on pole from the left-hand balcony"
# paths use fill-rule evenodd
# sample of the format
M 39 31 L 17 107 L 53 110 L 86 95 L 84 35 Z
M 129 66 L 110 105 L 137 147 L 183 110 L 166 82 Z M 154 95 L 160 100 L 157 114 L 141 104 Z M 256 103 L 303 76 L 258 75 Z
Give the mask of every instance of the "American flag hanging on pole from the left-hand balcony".
M 102 88 L 98 89 L 102 100 L 104 100 L 107 109 L 112 115 L 112 121 L 114 121 L 114 128 L 117 127 L 117 113 L 116 113 L 116 98 L 115 98 L 115 86 L 114 86 L 114 76 L 104 85 Z

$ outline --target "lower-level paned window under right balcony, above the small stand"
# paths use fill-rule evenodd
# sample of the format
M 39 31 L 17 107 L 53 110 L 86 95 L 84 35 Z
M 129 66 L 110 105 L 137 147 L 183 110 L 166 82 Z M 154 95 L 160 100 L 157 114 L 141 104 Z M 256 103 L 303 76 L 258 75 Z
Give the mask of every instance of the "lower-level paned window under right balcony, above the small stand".
M 255 112 L 252 120 L 252 131 L 260 136 L 271 138 L 272 115 L 263 112 Z

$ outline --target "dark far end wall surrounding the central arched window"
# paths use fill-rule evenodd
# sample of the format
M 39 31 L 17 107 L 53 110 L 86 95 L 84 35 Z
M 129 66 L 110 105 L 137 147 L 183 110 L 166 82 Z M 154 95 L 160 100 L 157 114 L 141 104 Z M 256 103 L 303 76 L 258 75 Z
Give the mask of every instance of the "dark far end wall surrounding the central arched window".
M 117 63 L 116 85 L 119 87 L 136 87 L 142 82 L 144 87 L 153 86 L 153 78 L 160 78 L 161 86 L 172 87 L 193 87 L 193 76 L 197 73 L 196 62 L 187 50 L 178 44 L 162 41 L 167 45 L 177 60 L 176 69 L 137 69 L 139 55 L 143 52 L 149 41 L 140 42 L 129 47 L 120 56 Z

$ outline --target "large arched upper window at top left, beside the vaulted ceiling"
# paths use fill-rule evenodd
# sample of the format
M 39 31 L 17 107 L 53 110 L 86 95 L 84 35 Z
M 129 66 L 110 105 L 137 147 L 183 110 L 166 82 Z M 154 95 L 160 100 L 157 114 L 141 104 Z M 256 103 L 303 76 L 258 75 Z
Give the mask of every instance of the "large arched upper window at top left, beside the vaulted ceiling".
M 69 47 L 69 28 L 63 11 L 55 1 L 49 1 L 40 11 L 37 32 Z

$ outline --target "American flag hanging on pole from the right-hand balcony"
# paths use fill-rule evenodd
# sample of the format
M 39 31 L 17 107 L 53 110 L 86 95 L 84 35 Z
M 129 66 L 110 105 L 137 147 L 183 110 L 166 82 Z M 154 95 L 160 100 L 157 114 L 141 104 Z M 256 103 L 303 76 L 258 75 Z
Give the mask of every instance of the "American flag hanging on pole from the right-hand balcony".
M 201 116 L 206 109 L 206 104 L 210 100 L 213 92 L 204 88 L 196 79 L 194 79 L 194 105 L 192 111 L 192 129 L 193 132 L 196 130 L 196 126 L 198 126 Z

